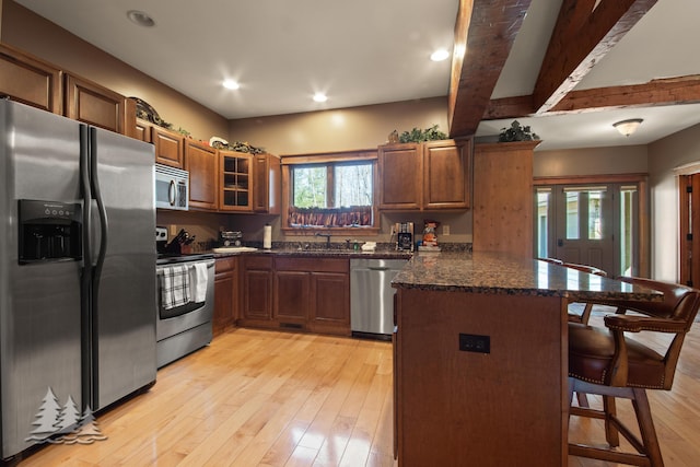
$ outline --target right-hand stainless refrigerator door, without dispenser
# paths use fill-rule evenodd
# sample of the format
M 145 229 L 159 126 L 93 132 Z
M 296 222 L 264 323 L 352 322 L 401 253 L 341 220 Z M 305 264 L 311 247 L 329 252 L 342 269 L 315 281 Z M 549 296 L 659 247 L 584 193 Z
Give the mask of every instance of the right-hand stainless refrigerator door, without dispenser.
M 91 133 L 93 191 L 106 215 L 106 230 L 93 222 L 92 244 L 93 405 L 101 409 L 155 382 L 155 155 L 152 144 L 96 128 Z

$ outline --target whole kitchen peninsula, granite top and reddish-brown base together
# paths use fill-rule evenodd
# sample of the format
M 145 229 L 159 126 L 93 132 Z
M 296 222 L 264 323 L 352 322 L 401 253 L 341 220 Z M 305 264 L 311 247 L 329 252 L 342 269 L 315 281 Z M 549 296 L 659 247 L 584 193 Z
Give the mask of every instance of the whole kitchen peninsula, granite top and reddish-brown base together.
M 419 254 L 399 272 L 399 466 L 564 466 L 567 305 L 661 294 L 499 254 Z

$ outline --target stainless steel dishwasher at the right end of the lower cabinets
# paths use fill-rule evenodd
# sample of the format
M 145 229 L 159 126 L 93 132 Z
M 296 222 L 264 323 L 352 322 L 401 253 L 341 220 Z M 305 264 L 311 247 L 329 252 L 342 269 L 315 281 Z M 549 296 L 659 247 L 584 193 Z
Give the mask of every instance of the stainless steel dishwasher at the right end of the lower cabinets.
M 407 259 L 350 259 L 350 328 L 352 336 L 390 340 L 394 331 L 392 279 Z

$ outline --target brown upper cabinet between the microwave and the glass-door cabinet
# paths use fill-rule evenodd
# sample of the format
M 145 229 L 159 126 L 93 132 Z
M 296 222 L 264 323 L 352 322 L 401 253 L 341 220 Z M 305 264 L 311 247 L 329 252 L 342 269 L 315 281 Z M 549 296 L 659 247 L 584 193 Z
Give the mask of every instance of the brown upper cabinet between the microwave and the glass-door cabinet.
M 185 140 L 185 170 L 189 172 L 189 207 L 215 211 L 218 205 L 217 150 L 207 143 Z

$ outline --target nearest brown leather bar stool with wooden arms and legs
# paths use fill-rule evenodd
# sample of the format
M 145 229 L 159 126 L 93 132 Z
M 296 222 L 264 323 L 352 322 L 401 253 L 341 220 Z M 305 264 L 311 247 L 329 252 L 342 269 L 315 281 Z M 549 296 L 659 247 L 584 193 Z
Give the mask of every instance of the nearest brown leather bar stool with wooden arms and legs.
M 640 278 L 619 278 L 664 293 L 662 302 L 606 301 L 617 313 L 605 316 L 605 328 L 569 323 L 569 416 L 605 420 L 610 448 L 569 443 L 569 454 L 631 464 L 663 466 L 646 389 L 669 390 L 680 349 L 700 307 L 700 291 Z M 634 314 L 626 314 L 628 311 Z M 625 332 L 665 332 L 673 339 L 664 353 L 629 339 Z M 573 407 L 573 393 L 603 396 L 603 410 Z M 632 400 L 641 439 L 616 413 L 616 399 Z M 615 450 L 622 434 L 637 453 Z

